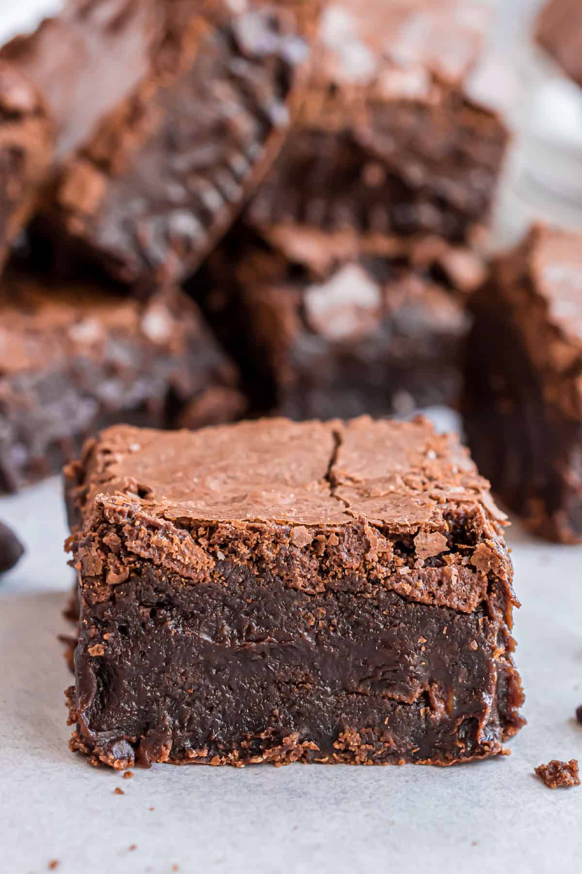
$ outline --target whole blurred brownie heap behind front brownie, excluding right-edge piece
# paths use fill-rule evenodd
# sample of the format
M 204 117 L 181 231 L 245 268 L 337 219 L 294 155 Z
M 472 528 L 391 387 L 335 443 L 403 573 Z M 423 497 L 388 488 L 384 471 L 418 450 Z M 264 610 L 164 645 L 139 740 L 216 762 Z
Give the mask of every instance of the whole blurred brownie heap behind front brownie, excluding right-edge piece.
M 68 0 L 0 47 L 0 488 L 114 421 L 455 405 L 507 142 L 469 95 L 486 28 Z

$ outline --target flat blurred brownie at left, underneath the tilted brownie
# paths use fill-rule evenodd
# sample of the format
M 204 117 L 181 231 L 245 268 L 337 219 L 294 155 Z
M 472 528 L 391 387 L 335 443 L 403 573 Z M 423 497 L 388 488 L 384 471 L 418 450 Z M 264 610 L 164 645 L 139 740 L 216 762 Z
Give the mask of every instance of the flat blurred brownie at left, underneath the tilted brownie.
M 187 402 L 195 424 L 242 412 L 233 365 L 181 292 L 139 303 L 90 282 L 51 286 L 26 267 L 8 268 L 0 285 L 1 491 L 58 470 L 99 427 L 175 424 Z

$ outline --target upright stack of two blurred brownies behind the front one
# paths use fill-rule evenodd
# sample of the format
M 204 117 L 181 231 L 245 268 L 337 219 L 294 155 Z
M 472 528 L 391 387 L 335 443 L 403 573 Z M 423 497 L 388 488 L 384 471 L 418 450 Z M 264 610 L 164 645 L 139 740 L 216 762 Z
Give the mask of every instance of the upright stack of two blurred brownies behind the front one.
M 259 410 L 455 403 L 507 142 L 469 96 L 486 22 L 482 3 L 324 4 L 298 122 L 209 260 Z

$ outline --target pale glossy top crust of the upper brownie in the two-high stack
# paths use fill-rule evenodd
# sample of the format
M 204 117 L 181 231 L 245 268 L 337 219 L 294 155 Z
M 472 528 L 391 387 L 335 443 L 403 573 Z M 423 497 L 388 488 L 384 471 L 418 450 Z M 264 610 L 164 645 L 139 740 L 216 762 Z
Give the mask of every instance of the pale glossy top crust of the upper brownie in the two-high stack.
M 318 75 L 339 85 L 376 80 L 386 96 L 427 96 L 430 80 L 462 82 L 489 21 L 470 0 L 330 0 L 320 24 Z

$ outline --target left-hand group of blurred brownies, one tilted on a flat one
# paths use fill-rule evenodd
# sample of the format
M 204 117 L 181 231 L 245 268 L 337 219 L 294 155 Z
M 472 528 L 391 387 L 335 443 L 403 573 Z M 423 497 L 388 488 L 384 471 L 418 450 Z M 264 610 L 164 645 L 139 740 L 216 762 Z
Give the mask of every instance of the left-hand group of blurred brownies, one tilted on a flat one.
M 70 0 L 0 50 L 0 261 L 34 217 L 0 279 L 1 489 L 116 420 L 243 413 L 176 283 L 276 156 L 307 24 L 261 0 Z

